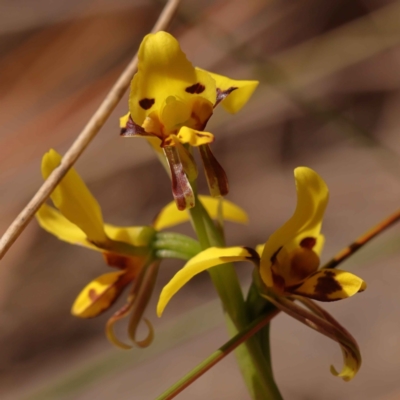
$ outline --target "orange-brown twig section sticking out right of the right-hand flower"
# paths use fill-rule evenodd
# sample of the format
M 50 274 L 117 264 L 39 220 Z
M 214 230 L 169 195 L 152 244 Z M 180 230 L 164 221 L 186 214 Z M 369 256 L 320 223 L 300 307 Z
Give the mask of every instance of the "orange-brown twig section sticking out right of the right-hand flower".
M 366 245 L 371 239 L 379 235 L 387 228 L 390 228 L 393 224 L 400 220 L 400 210 L 396 211 L 389 217 L 385 218 L 378 225 L 374 226 L 367 233 L 364 233 L 352 244 L 341 250 L 332 260 L 328 261 L 322 268 L 335 268 L 344 260 L 353 255 L 357 250 Z

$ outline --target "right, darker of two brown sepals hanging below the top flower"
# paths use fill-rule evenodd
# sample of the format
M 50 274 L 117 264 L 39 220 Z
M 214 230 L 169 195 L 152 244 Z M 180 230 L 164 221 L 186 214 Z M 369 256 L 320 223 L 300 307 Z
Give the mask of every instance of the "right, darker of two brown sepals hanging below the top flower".
M 204 144 L 199 146 L 199 150 L 211 196 L 219 197 L 227 195 L 229 192 L 228 177 L 211 152 L 210 146 Z

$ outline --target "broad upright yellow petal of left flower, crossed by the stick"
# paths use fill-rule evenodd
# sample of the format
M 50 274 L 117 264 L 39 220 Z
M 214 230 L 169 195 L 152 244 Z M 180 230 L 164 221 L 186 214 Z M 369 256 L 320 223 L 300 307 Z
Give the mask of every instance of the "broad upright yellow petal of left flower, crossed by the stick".
M 43 179 L 47 179 L 60 162 L 61 156 L 55 150 L 46 153 L 42 159 Z M 100 206 L 74 168 L 67 172 L 50 197 L 64 217 L 85 232 L 88 240 L 107 241 Z

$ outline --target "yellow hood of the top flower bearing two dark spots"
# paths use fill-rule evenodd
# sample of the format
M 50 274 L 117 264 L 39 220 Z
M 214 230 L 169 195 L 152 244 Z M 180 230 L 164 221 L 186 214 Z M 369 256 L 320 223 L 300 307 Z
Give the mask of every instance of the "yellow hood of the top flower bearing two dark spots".
M 140 45 L 138 72 L 131 83 L 129 110 L 133 121 L 142 125 L 169 96 L 184 103 L 200 96 L 214 104 L 215 81 L 204 71 L 195 70 L 172 35 L 152 33 Z

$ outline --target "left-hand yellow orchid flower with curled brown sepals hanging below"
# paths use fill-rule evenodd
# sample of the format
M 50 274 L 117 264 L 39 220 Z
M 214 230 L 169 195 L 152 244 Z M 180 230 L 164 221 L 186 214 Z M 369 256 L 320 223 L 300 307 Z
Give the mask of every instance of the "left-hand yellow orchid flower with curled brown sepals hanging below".
M 51 149 L 46 153 L 42 160 L 43 178 L 47 179 L 60 162 L 61 156 L 55 150 Z M 90 282 L 75 300 L 72 314 L 80 318 L 100 315 L 112 306 L 129 284 L 133 283 L 127 304 L 107 323 L 109 339 L 119 347 L 129 348 L 130 346 L 121 343 L 115 337 L 113 325 L 130 312 L 132 320 L 139 323 L 140 318 L 138 319 L 137 315 L 144 311 L 139 309 L 137 313 L 134 312 L 139 292 L 143 290 L 146 282 L 151 282 L 149 288 L 153 287 L 155 276 L 149 274 L 156 274 L 158 270 L 159 260 L 151 247 L 156 231 L 189 220 L 188 213 L 180 212 L 175 203 L 171 202 L 161 210 L 153 226 L 119 227 L 105 224 L 98 202 L 73 168 L 53 191 L 51 199 L 57 209 L 44 204 L 36 214 L 40 226 L 60 240 L 103 253 L 106 263 L 118 268 L 118 271 L 103 274 Z M 219 200 L 200 196 L 200 201 L 211 217 L 216 218 Z M 246 213 L 231 202 L 223 202 L 223 211 L 226 220 L 247 222 Z M 148 321 L 146 323 L 150 328 Z M 139 345 L 149 344 L 148 340 L 137 341 L 134 338 L 136 326 L 137 324 L 132 326 L 131 323 L 130 334 L 133 341 Z

